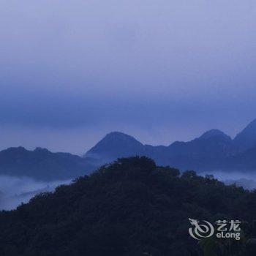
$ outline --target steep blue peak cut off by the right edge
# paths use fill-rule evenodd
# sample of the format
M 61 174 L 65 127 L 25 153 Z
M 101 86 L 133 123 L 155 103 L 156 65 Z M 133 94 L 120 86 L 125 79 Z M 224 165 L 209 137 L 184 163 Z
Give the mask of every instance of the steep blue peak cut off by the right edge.
M 256 146 L 256 119 L 252 121 L 242 132 L 236 135 L 234 143 L 239 151 Z

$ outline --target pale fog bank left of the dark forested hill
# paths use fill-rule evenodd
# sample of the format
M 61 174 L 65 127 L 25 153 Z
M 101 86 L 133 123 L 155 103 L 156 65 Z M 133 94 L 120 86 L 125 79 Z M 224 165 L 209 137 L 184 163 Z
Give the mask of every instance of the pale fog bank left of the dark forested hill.
M 0 210 L 11 210 L 27 203 L 40 192 L 53 191 L 60 184 L 69 184 L 71 181 L 34 181 L 31 178 L 17 178 L 0 176 Z

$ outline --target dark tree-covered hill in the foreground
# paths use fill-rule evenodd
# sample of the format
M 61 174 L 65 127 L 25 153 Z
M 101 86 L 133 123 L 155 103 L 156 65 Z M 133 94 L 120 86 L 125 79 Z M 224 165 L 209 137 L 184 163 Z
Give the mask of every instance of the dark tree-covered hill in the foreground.
M 15 211 L 2 211 L 0 255 L 195 256 L 201 252 L 189 238 L 189 218 L 255 217 L 255 192 L 193 171 L 180 175 L 146 157 L 118 159 Z

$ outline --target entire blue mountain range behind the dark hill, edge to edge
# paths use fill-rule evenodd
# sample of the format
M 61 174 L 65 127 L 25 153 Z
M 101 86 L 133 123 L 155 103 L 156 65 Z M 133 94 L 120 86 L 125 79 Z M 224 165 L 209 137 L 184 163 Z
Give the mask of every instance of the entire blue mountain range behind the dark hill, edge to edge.
M 52 153 L 45 148 L 34 151 L 8 148 L 0 152 L 0 175 L 29 176 L 39 180 L 67 180 L 83 176 L 100 165 L 121 157 L 151 157 L 158 165 L 198 172 L 256 170 L 256 120 L 232 139 L 211 129 L 189 142 L 170 146 L 143 145 L 122 132 L 110 132 L 83 157 Z

